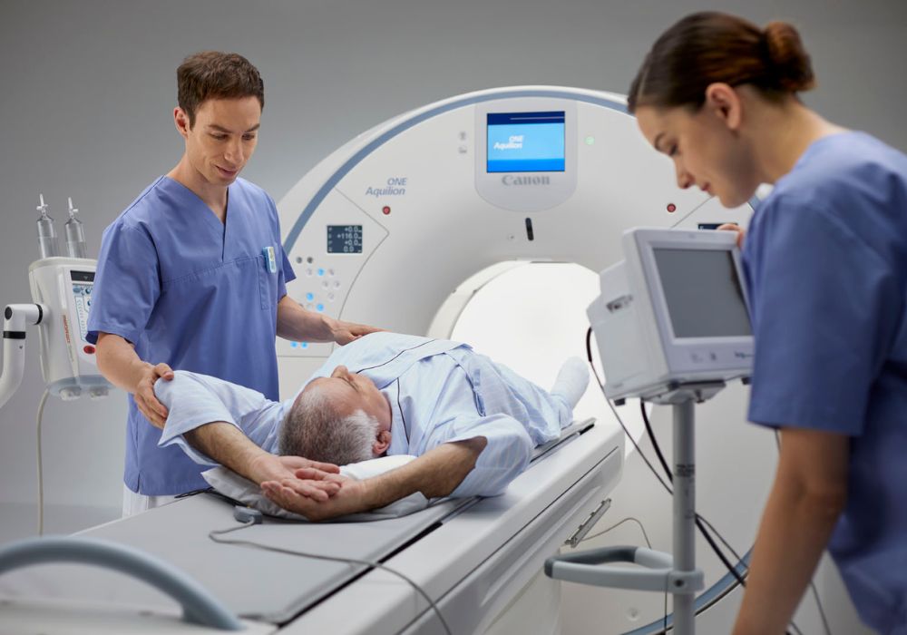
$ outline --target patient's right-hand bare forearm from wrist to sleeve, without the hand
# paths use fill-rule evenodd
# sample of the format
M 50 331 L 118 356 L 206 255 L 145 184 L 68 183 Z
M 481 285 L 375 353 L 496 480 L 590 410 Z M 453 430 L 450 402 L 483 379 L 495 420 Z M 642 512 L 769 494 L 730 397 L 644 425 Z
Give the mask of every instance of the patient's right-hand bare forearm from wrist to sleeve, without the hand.
M 449 496 L 473 470 L 485 445 L 483 436 L 439 445 L 403 467 L 364 481 L 368 508 L 384 507 L 415 492 L 425 498 Z

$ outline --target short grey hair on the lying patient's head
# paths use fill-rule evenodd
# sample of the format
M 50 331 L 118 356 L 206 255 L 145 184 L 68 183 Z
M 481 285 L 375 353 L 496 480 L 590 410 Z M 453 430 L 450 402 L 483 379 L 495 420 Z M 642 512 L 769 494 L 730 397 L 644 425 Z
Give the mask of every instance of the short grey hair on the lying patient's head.
M 280 454 L 346 465 L 374 458 L 378 421 L 356 410 L 342 416 L 324 391 L 313 386 L 290 407 L 278 440 Z

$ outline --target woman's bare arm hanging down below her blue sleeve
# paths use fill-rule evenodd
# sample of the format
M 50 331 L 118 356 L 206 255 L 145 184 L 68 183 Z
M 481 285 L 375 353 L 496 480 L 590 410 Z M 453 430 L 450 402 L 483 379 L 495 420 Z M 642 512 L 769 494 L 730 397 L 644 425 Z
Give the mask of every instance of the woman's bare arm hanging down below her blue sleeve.
M 735 635 L 783 633 L 847 500 L 850 438 L 785 428 Z

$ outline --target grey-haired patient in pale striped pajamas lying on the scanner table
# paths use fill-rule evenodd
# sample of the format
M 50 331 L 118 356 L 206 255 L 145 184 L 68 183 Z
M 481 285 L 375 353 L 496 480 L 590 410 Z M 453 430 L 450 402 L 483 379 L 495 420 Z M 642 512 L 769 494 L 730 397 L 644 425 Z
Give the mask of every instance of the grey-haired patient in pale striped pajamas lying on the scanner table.
M 549 393 L 468 345 L 382 332 L 337 348 L 282 403 L 185 371 L 158 380 L 155 393 L 169 409 L 161 446 L 226 465 L 274 503 L 321 520 L 414 492 L 502 493 L 533 447 L 571 423 L 588 382 L 576 357 Z M 418 458 L 364 481 L 336 474 L 337 464 L 384 454 Z

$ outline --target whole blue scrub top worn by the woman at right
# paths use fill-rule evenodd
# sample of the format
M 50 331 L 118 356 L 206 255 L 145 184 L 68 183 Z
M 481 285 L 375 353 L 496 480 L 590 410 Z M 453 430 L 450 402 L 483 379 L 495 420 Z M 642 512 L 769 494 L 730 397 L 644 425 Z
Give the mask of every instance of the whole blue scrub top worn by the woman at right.
M 829 551 L 863 621 L 907 632 L 907 156 L 862 132 L 814 142 L 743 257 L 749 418 L 851 437 Z

